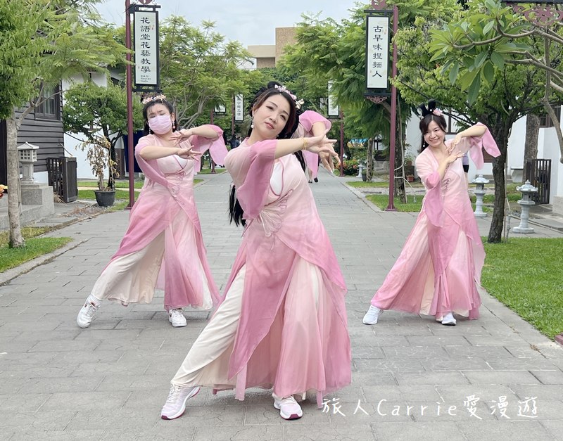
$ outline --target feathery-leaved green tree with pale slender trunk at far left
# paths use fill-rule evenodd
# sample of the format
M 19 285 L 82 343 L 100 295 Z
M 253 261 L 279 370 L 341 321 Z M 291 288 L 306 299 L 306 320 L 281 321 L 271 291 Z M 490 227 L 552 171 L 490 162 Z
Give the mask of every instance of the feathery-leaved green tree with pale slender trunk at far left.
M 10 245 L 25 241 L 20 231 L 17 133 L 25 115 L 61 79 L 105 70 L 125 57 L 107 27 L 96 25 L 93 1 L 0 1 L 0 117 L 6 119 Z M 23 13 L 25 11 L 25 13 Z M 37 98 L 39 97 L 39 98 Z M 43 97 L 43 98 L 41 98 Z M 23 109 L 23 112 L 16 110 Z

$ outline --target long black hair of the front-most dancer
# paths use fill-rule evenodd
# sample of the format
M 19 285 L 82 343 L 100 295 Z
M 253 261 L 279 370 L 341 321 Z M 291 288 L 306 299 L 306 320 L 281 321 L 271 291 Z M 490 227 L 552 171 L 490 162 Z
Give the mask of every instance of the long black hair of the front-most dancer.
M 289 103 L 289 117 L 287 118 L 286 124 L 277 139 L 289 139 L 293 135 L 293 133 L 297 130 L 299 124 L 299 117 L 295 105 L 295 96 L 291 94 L 288 90 L 281 86 L 278 82 L 271 81 L 267 84 L 266 87 L 260 88 L 258 92 L 255 94 L 250 106 L 248 106 L 248 113 L 252 116 L 253 111 L 266 101 L 266 99 L 272 95 L 281 95 L 286 98 Z M 248 129 L 247 136 L 251 136 L 252 134 L 252 127 Z M 299 163 L 301 164 L 301 168 L 305 171 L 305 158 L 303 158 L 303 153 L 301 151 L 297 151 L 293 153 L 296 155 Z M 239 203 L 239 200 L 236 198 L 236 188 L 234 185 L 231 186 L 231 190 L 229 192 L 229 222 L 234 222 L 236 226 L 242 224 L 243 226 L 246 224 L 246 221 L 243 219 L 244 210 Z

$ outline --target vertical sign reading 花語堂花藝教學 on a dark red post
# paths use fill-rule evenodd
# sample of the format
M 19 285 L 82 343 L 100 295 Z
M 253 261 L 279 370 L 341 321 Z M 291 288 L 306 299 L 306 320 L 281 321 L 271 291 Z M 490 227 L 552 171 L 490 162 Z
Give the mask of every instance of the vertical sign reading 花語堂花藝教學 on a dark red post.
M 158 11 L 139 11 L 134 17 L 135 91 L 160 91 Z

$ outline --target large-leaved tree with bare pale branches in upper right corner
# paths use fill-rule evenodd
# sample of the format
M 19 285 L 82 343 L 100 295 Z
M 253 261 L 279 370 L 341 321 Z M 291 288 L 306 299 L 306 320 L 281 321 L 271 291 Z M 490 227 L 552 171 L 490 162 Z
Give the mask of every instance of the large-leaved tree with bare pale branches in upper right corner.
M 535 5 L 502 6 L 498 0 L 472 4 L 472 13 L 435 30 L 431 45 L 433 60 L 444 60 L 450 78 L 460 78 L 467 89 L 468 100 L 474 102 L 483 84 L 495 82 L 495 72 L 505 64 L 532 66 L 543 72 L 536 81 L 543 83 L 541 103 L 554 122 L 563 163 L 563 134 L 552 108 L 563 95 L 563 30 L 559 14 L 561 6 L 538 16 Z

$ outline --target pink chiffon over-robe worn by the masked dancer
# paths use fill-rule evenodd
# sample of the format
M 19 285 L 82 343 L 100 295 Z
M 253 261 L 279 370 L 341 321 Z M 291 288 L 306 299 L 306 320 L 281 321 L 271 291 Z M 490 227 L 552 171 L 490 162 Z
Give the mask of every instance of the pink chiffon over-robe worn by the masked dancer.
M 209 126 L 215 129 L 219 136 L 215 140 L 203 138 L 202 136 L 191 136 L 188 141 L 184 141 L 180 146 L 194 146 L 194 148 L 204 151 L 214 144 L 223 144 L 222 130 L 216 126 Z M 182 179 L 177 179 L 177 175 L 165 175 L 160 171 L 157 160 L 144 160 L 139 154 L 146 146 L 162 146 L 157 136 L 148 135 L 139 139 L 139 143 L 135 147 L 135 158 L 139 162 L 139 167 L 143 170 L 145 175 L 145 182 L 139 198 L 135 202 L 131 213 L 129 215 L 129 226 L 125 236 L 122 238 L 118 251 L 111 257 L 111 260 L 116 257 L 135 253 L 144 249 L 150 244 L 160 233 L 162 233 L 167 226 L 172 224 L 179 210 L 184 210 L 187 217 L 194 224 L 194 231 L 196 234 L 196 243 L 198 247 L 198 256 L 200 257 L 203 271 L 209 283 L 209 289 L 213 298 L 213 303 L 219 301 L 220 295 L 213 276 L 211 274 L 207 257 L 205 255 L 205 246 L 203 245 L 203 237 L 201 235 L 201 224 L 199 222 L 196 203 L 194 200 L 194 167 L 186 167 L 187 172 L 180 172 Z M 193 160 L 192 160 L 193 161 Z M 195 162 L 195 161 L 193 161 Z M 145 194 L 151 191 L 153 186 L 164 186 L 167 188 L 168 193 L 165 198 L 149 198 L 144 197 Z M 111 262 L 110 260 L 110 262 Z M 201 279 L 197 274 L 197 265 L 193 262 L 166 262 L 166 265 L 184 267 L 184 272 L 189 274 L 189 279 L 198 281 Z M 173 272 L 181 274 L 181 271 Z M 167 281 L 172 290 L 182 289 L 180 286 L 175 286 L 176 281 Z M 181 283 L 181 281 L 177 281 Z

